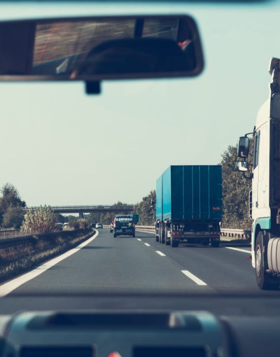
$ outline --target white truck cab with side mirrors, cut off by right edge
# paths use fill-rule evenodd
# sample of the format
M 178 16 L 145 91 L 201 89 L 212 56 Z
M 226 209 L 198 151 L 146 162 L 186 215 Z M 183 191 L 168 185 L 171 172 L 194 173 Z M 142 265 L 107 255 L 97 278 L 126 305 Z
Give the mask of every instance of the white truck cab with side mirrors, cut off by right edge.
M 261 106 L 254 128 L 254 156 L 251 174 L 246 158 L 249 138 L 239 138 L 236 168 L 252 180 L 249 213 L 253 219 L 251 235 L 252 265 L 262 290 L 280 285 L 280 59 L 269 63 L 269 97 Z

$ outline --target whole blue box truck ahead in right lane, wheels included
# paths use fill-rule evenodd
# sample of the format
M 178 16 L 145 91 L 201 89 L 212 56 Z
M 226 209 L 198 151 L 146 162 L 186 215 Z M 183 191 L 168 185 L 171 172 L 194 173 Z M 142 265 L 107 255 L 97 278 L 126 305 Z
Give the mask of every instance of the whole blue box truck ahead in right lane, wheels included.
M 170 166 L 156 182 L 155 238 L 218 247 L 222 218 L 220 165 Z

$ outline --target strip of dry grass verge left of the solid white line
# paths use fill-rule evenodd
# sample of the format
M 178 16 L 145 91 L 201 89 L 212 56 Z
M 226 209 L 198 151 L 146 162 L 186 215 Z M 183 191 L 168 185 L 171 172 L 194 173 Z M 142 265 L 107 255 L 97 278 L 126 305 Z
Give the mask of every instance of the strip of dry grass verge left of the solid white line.
M 55 238 L 50 234 L 44 239 L 35 239 L 34 243 L 0 249 L 0 282 L 11 279 L 75 247 L 86 240 L 90 232 L 90 230 L 77 232 L 76 237 L 73 236 L 73 232 L 70 236 Z

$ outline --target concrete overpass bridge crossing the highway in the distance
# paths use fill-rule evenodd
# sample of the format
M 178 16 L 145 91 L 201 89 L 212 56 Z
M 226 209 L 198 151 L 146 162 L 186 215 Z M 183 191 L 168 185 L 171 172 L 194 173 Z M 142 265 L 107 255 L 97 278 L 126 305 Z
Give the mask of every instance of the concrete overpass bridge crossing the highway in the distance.
M 28 207 L 30 209 L 38 207 Z M 134 205 L 97 205 L 97 206 L 50 206 L 55 213 L 78 213 L 79 217 L 83 217 L 85 213 L 125 213 L 131 214 L 134 210 Z

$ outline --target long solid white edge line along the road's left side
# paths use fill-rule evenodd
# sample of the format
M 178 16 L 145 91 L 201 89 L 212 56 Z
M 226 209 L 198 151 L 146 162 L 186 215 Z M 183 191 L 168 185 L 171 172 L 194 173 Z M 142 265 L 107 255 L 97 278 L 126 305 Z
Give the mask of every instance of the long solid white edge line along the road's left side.
M 39 267 L 29 271 L 28 273 L 25 273 L 23 275 L 15 277 L 10 282 L 0 285 L 0 297 L 4 297 L 4 296 L 10 294 L 13 290 L 17 289 L 22 284 L 29 282 L 31 279 L 42 274 L 44 271 L 53 267 L 55 264 L 58 264 L 61 261 L 63 261 L 64 259 L 72 256 L 72 254 L 76 253 L 78 250 L 80 250 L 81 248 L 85 247 L 87 244 L 92 242 L 98 236 L 98 234 L 99 234 L 99 232 L 97 231 L 93 237 L 87 239 L 85 242 L 82 242 L 75 248 L 66 251 L 65 253 L 61 254 L 61 256 L 53 258 L 53 259 L 49 260 L 47 263 L 39 265 Z

